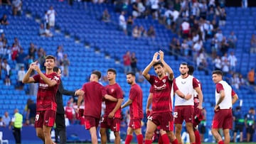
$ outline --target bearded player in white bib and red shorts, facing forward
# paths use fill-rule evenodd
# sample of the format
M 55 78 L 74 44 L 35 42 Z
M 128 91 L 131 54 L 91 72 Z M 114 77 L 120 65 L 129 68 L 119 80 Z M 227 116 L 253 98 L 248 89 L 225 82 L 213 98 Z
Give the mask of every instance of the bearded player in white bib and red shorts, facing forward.
M 201 91 L 201 87 L 199 87 L 199 82 L 196 80 L 196 78 L 188 74 L 188 64 L 186 62 L 182 62 L 179 67 L 179 71 L 181 72 L 181 75 L 174 79 L 174 92 L 176 91 L 176 89 L 179 89 L 183 94 L 194 94 L 196 90 L 199 99 L 198 109 L 203 109 L 203 94 Z M 196 140 L 193 132 L 193 96 L 191 96 L 189 99 L 183 99 L 183 97 L 176 96 L 174 106 L 175 135 L 178 139 L 178 143 L 182 143 L 181 130 L 182 123 L 185 120 L 190 142 L 194 144 Z

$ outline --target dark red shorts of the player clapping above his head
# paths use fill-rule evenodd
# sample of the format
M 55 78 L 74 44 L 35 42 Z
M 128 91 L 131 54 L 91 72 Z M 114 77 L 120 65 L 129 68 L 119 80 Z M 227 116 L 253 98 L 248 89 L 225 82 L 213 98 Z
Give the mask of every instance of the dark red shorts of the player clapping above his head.
M 174 116 L 171 111 L 150 113 L 148 120 L 155 123 L 156 126 L 159 126 L 159 129 L 163 129 L 164 131 L 174 131 Z

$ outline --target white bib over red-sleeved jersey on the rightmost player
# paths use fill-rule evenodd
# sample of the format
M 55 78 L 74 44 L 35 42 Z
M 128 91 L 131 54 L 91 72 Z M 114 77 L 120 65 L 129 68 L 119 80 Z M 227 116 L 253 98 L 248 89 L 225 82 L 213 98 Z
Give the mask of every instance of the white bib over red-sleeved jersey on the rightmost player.
M 224 91 L 225 97 L 223 101 L 219 104 L 220 109 L 230 109 L 232 108 L 232 97 L 235 95 L 235 92 L 233 91 L 232 87 L 225 82 L 225 81 L 220 81 L 216 84 L 216 89 L 215 89 L 215 103 L 218 103 L 218 100 L 220 99 L 220 91 Z

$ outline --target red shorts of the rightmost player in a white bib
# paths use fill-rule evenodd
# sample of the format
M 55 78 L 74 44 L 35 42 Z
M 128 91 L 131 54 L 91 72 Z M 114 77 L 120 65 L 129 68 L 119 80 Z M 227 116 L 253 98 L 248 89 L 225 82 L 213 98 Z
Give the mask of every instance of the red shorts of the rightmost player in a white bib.
M 232 109 L 220 109 L 215 111 L 212 128 L 223 128 L 232 129 L 233 128 L 233 114 Z

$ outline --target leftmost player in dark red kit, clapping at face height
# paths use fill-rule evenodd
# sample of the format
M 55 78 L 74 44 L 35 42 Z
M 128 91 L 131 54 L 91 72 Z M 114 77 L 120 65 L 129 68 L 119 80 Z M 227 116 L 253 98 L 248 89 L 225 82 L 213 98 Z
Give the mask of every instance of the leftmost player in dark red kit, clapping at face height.
M 56 92 L 60 84 L 60 77 L 53 72 L 55 66 L 55 57 L 52 55 L 46 56 L 46 73 L 41 72 L 38 67 L 38 62 L 33 62 L 28 68 L 23 83 L 39 83 L 38 94 L 36 99 L 36 119 L 35 128 L 36 135 L 41 138 L 44 143 L 51 144 L 53 141 L 50 137 L 51 128 L 55 122 L 56 116 Z M 35 70 L 38 74 L 30 77 L 31 72 Z

